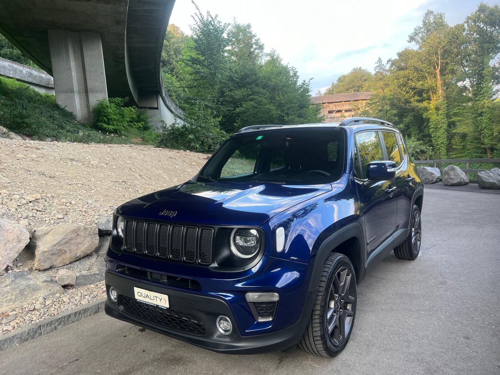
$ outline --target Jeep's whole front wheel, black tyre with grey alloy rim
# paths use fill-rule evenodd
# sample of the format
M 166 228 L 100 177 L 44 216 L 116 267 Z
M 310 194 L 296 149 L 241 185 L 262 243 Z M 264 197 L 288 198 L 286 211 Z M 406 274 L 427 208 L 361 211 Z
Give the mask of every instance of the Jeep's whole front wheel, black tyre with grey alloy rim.
M 311 317 L 298 346 L 323 357 L 339 354 L 354 327 L 356 300 L 354 268 L 347 256 L 332 252 L 324 262 Z

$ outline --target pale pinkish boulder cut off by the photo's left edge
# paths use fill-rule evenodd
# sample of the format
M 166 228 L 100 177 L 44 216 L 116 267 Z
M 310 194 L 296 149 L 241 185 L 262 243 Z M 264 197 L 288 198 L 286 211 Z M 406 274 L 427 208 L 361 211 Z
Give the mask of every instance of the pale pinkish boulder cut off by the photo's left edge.
M 12 264 L 28 242 L 29 232 L 25 226 L 0 217 L 0 271 Z

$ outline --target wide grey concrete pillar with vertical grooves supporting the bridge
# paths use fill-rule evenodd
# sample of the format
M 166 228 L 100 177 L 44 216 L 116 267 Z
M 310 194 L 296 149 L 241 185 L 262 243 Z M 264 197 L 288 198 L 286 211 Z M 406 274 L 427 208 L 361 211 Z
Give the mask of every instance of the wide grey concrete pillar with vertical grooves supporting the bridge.
M 48 42 L 57 103 L 91 122 L 91 106 L 107 98 L 100 34 L 49 29 Z

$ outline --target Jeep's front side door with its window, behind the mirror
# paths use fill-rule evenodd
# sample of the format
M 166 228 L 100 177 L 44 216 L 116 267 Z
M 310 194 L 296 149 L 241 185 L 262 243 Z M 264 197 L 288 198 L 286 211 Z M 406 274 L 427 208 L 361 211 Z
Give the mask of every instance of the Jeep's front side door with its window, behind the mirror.
M 386 160 L 381 134 L 376 130 L 355 134 L 354 168 L 357 168 L 357 192 L 364 217 L 366 249 L 369 253 L 390 237 L 394 231 L 396 190 L 393 179 L 371 182 L 366 179 L 366 165 L 370 161 Z

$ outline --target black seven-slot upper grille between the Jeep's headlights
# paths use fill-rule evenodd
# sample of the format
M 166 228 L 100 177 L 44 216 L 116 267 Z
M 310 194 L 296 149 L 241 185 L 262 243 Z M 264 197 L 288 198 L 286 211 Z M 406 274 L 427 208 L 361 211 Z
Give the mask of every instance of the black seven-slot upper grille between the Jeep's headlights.
M 123 231 L 126 251 L 202 265 L 212 262 L 213 228 L 126 219 Z

